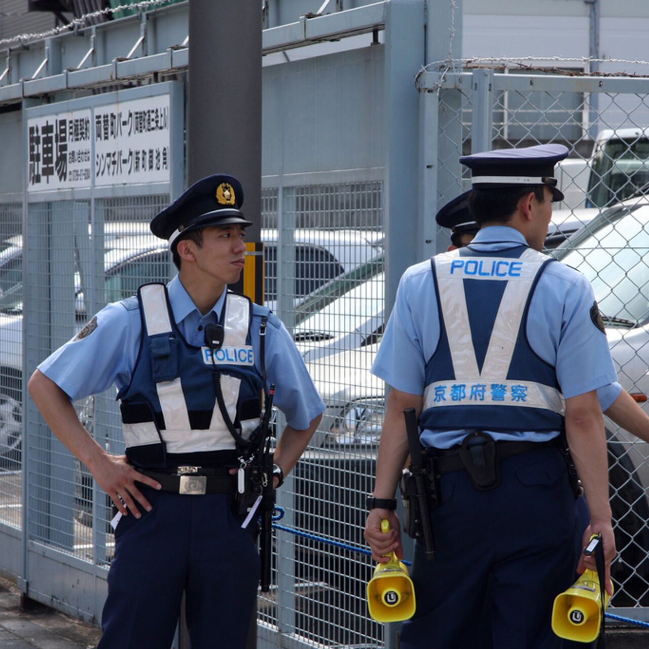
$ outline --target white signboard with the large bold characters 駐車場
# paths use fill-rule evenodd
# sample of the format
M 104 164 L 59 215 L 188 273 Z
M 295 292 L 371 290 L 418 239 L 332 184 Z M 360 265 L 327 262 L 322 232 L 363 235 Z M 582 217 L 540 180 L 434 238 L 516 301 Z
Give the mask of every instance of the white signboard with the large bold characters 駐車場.
M 90 187 L 90 108 L 27 120 L 29 191 Z

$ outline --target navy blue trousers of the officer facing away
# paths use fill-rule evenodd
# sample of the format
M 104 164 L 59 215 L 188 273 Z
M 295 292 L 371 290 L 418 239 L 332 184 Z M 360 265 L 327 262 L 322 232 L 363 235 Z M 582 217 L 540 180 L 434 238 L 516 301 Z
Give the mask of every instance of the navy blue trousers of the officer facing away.
M 549 445 L 502 461 L 496 489 L 441 476 L 435 559 L 415 543 L 417 611 L 403 649 L 559 649 L 550 616 L 574 581 L 580 519 L 565 462 Z

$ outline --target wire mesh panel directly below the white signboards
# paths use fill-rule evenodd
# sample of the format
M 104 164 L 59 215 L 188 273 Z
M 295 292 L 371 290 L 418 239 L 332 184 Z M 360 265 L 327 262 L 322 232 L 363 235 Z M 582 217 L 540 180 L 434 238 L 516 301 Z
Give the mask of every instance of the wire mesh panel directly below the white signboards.
M 30 327 L 42 332 L 30 337 L 34 364 L 74 337 L 106 302 L 134 295 L 145 282 L 169 280 L 167 245 L 149 230 L 151 218 L 168 202 L 163 194 L 29 206 L 29 269 L 36 278 Z M 114 388 L 74 406 L 102 447 L 123 454 Z M 114 548 L 108 497 L 40 417 L 31 422 L 30 538 L 84 561 L 108 563 Z

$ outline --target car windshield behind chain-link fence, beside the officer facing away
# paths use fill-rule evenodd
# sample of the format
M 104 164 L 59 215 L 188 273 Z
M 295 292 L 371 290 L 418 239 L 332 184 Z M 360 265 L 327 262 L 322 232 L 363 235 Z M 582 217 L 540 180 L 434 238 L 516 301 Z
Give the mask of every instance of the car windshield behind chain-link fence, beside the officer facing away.
M 637 210 L 614 223 L 604 223 L 562 256 L 561 262 L 581 271 L 591 282 L 605 320 L 643 324 L 649 319 L 647 252 L 649 212 Z

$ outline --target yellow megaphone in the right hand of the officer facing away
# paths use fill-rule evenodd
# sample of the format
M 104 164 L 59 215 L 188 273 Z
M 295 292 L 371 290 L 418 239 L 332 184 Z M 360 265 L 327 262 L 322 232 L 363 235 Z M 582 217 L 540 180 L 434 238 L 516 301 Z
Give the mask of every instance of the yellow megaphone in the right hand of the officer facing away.
M 611 596 L 604 591 L 604 608 Z M 567 591 L 554 598 L 552 631 L 560 638 L 592 643 L 600 632 L 602 591 L 594 570 L 585 570 Z

